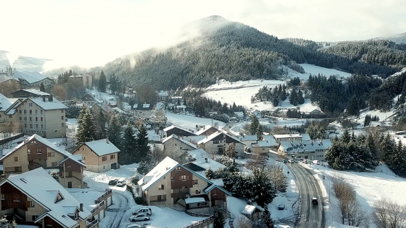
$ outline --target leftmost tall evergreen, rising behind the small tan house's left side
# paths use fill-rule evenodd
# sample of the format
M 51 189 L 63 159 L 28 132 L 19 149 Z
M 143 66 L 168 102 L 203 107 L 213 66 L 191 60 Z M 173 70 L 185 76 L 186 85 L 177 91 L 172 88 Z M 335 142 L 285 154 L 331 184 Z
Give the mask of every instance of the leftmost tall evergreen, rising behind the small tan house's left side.
M 80 144 L 87 141 L 94 141 L 95 138 L 93 115 L 87 106 L 83 106 L 78 117 L 78 133 L 76 139 Z

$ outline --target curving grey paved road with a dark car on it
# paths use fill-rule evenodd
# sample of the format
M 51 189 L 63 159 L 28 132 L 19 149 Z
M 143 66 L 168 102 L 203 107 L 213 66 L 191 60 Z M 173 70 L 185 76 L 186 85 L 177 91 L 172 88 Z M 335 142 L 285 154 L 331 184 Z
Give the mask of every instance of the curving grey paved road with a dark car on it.
M 288 164 L 290 170 L 297 177 L 300 188 L 300 207 L 299 223 L 300 228 L 322 228 L 323 224 L 323 205 L 321 201 L 321 190 L 317 180 L 312 173 L 297 163 Z M 319 205 L 312 205 L 311 199 L 317 197 Z

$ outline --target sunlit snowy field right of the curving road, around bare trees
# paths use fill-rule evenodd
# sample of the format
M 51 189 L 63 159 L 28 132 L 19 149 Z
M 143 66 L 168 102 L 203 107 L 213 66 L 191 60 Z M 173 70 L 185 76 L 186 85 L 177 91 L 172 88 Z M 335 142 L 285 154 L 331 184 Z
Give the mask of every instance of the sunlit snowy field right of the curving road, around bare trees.
M 332 170 L 323 166 L 306 165 L 303 166 L 314 170 L 317 173 L 317 179 L 322 188 L 323 196 L 328 198 L 330 194 L 329 178 L 330 176 L 342 176 L 345 181 L 350 183 L 355 191 L 356 198 L 361 203 L 367 213 L 373 210 L 374 202 L 386 198 L 395 201 L 399 205 L 406 205 L 406 198 L 403 197 L 403 191 L 406 189 L 406 179 L 396 176 L 387 166 L 378 166 L 374 172 L 343 172 Z M 322 176 L 325 176 L 325 181 Z M 333 227 L 341 228 L 348 227 L 341 225 L 341 217 L 338 207 L 338 199 L 335 197 L 333 190 L 331 190 L 330 203 L 325 211 L 325 225 L 331 227 L 331 218 L 333 220 Z M 370 218 L 370 216 L 369 216 Z M 375 227 L 371 223 L 370 227 Z M 379 227 L 376 227 L 379 228 Z

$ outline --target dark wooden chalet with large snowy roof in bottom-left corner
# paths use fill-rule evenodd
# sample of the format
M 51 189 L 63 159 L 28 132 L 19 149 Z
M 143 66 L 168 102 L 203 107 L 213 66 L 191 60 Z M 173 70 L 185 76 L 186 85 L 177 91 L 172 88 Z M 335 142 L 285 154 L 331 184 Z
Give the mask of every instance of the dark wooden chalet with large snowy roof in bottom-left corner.
M 98 221 L 43 168 L 0 183 L 0 214 L 38 227 L 94 228 Z

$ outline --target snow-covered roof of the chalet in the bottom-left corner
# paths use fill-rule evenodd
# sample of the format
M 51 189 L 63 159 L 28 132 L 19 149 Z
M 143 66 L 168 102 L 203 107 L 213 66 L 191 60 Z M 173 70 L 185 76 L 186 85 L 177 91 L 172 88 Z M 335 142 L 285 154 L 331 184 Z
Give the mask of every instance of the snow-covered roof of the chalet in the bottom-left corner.
M 23 192 L 23 194 L 44 207 L 45 213 L 39 215 L 36 222 L 48 216 L 62 227 L 76 227 L 78 221 L 69 216 L 72 212 L 78 211 L 81 220 L 86 220 L 89 216 L 92 216 L 85 207 L 83 207 L 83 212 L 81 212 L 78 200 L 67 192 L 43 168 L 36 168 L 23 174 L 9 176 L 0 185 L 4 183 L 10 183 L 17 190 Z M 62 196 L 62 199 L 57 201 L 57 196 Z

